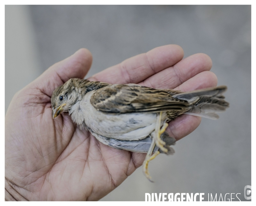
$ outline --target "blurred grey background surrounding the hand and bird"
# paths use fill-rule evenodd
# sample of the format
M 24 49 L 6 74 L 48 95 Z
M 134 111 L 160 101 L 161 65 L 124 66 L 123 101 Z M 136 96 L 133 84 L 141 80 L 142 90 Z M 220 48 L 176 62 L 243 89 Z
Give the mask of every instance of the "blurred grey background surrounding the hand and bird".
M 219 120 L 203 119 L 175 155 L 137 169 L 102 200 L 145 200 L 147 193 L 241 193 L 251 185 L 251 6 L 6 6 L 5 105 L 52 64 L 84 47 L 88 76 L 157 46 L 212 58 L 230 102 Z M 205 197 L 206 197 L 205 196 Z M 236 199 L 237 200 L 237 199 Z

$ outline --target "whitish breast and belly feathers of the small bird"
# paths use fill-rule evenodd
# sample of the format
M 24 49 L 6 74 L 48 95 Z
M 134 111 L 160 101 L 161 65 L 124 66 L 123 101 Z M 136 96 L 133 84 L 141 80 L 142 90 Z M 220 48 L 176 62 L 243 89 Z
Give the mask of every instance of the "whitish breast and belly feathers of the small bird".
M 78 125 L 85 123 L 96 134 L 119 140 L 143 139 L 154 131 L 157 113 L 100 112 L 90 104 L 93 92 L 88 92 L 84 100 L 76 103 L 70 111 L 72 120 Z M 165 116 L 164 114 L 163 117 Z

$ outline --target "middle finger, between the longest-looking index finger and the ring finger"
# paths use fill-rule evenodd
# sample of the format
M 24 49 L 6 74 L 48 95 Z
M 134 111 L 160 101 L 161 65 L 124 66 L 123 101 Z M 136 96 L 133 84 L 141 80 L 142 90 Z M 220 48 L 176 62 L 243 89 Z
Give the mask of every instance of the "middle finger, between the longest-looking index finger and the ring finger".
M 209 71 L 212 68 L 212 60 L 206 54 L 194 54 L 181 60 L 174 66 L 154 74 L 140 83 L 140 85 L 157 89 L 172 89 L 196 74 Z

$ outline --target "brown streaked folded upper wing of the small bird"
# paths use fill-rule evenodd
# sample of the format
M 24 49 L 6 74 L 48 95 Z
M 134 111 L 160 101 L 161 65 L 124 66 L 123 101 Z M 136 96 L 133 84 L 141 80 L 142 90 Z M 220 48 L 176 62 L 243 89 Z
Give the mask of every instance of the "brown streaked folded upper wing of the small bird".
M 96 90 L 90 103 L 102 112 L 160 112 L 175 110 L 186 112 L 191 104 L 172 97 L 180 92 L 171 89 L 152 89 L 136 84 L 115 84 Z

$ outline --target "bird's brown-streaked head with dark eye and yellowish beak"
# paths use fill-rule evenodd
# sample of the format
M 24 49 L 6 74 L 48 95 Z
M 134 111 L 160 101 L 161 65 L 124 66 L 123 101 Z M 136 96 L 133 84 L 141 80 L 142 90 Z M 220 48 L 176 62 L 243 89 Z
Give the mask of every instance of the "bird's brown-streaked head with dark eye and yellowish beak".
M 61 112 L 68 110 L 76 103 L 78 95 L 79 79 L 70 79 L 63 85 L 59 86 L 52 93 L 52 118 L 58 117 Z

